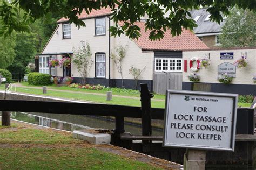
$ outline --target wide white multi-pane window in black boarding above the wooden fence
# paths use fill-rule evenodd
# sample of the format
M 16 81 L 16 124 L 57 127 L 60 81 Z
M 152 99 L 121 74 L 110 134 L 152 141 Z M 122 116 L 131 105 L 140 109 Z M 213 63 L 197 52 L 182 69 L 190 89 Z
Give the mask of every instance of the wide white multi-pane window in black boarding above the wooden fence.
M 182 59 L 178 58 L 155 58 L 155 72 L 182 72 Z

